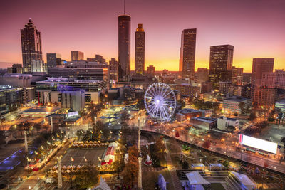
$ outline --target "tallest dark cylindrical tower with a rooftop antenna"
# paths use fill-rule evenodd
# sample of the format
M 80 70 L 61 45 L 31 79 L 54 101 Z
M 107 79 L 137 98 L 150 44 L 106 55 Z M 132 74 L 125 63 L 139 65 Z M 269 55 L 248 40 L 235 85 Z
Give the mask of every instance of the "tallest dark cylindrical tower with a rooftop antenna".
M 130 81 L 130 16 L 118 16 L 119 81 Z

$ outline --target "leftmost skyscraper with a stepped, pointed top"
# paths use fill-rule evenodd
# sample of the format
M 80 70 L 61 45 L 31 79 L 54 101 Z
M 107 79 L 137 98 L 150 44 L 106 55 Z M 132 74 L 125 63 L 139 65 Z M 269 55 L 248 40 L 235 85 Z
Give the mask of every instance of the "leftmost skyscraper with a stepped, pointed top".
M 36 29 L 31 18 L 28 19 L 25 27 L 21 29 L 21 45 L 24 72 L 31 73 L 31 61 L 43 60 L 41 32 Z

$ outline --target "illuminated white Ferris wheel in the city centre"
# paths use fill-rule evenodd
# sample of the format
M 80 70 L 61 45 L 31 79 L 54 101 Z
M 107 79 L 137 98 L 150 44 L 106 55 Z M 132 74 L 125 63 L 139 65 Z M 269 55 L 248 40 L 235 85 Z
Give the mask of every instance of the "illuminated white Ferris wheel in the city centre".
M 175 112 L 175 93 L 165 83 L 153 83 L 145 91 L 145 109 L 148 114 L 161 122 L 167 122 Z

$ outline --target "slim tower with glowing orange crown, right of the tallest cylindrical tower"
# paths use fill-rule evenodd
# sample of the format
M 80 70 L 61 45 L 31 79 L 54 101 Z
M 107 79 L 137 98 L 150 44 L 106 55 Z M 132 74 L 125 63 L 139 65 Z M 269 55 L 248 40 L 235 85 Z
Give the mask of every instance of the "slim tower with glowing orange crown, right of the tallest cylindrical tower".
M 145 31 L 142 23 L 138 24 L 135 31 L 135 73 L 141 75 L 145 73 Z

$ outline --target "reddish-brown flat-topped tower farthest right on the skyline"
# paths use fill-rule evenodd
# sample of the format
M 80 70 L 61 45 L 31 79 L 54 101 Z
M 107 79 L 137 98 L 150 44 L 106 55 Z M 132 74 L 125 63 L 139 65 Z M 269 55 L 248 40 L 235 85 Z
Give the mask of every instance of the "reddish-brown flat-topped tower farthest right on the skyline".
M 254 58 L 252 61 L 252 85 L 261 85 L 262 73 L 273 72 L 274 58 Z

